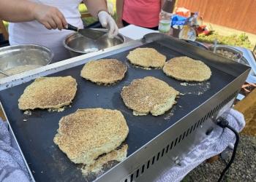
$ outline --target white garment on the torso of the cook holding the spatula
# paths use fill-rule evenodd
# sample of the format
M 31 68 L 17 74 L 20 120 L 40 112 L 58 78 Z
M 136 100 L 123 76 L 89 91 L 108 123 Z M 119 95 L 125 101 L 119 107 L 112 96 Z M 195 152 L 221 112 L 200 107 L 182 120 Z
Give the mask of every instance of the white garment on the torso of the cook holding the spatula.
M 67 20 L 67 23 L 83 28 L 78 6 L 81 0 L 31 0 L 38 4 L 57 7 Z M 63 46 L 64 38 L 73 31 L 48 30 L 36 20 L 23 23 L 10 23 L 8 28 L 11 45 L 38 44 L 48 47 L 54 53 L 53 62 L 70 58 L 68 50 Z

